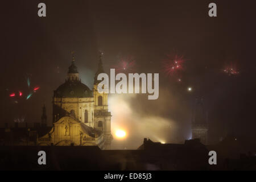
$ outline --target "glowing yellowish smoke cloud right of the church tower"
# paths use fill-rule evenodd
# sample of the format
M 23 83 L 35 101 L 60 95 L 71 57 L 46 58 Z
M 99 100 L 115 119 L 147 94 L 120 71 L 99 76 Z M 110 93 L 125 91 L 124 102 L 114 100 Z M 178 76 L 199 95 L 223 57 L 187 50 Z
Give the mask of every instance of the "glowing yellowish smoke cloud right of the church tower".
M 114 138 L 112 149 L 137 149 L 143 143 L 143 138 L 161 143 L 184 142 L 184 139 L 188 139 L 180 131 L 184 122 L 170 119 L 170 110 L 180 107 L 175 103 L 175 97 L 163 88 L 159 99 L 154 101 L 147 100 L 146 94 L 109 94 Z M 126 131 L 126 137 L 117 138 L 117 130 Z

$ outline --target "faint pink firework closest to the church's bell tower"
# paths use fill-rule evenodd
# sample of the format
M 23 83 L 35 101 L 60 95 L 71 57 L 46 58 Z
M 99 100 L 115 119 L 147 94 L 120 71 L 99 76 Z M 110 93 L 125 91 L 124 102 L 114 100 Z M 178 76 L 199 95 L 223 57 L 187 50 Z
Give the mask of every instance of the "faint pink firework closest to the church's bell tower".
M 115 68 L 115 72 L 126 72 L 126 73 L 133 73 L 135 67 L 135 60 L 131 57 L 124 59 L 122 58 L 120 61 L 118 61 L 117 65 L 114 65 L 113 68 Z

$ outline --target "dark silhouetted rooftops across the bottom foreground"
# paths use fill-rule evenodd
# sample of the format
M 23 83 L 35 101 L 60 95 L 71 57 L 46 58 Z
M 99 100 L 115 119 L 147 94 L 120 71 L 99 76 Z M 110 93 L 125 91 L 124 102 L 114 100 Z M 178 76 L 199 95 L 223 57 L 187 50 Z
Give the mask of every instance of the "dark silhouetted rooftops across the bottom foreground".
M 38 152 L 46 152 L 46 165 Z M 256 157 L 220 158 L 209 165 L 199 140 L 161 144 L 144 139 L 138 150 L 100 150 L 97 146 L 0 146 L 0 170 L 233 170 L 256 169 Z

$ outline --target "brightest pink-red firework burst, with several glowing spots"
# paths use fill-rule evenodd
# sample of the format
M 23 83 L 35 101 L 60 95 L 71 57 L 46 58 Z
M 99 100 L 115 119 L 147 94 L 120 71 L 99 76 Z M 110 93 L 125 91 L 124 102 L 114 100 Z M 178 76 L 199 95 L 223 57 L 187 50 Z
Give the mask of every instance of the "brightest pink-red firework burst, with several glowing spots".
M 163 60 L 163 72 L 167 77 L 179 77 L 180 71 L 184 69 L 184 56 L 168 54 L 167 57 Z M 181 81 L 179 78 L 177 80 Z

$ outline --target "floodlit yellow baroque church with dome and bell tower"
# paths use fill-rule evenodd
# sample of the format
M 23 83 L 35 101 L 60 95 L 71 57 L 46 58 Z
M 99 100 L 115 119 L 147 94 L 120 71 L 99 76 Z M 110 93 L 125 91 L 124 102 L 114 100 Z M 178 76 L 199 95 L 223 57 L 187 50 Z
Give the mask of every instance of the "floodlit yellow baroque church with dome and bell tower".
M 37 145 L 98 146 L 110 149 L 111 113 L 108 94 L 99 93 L 97 76 L 104 73 L 102 53 L 91 90 L 81 82 L 75 58 L 68 68 L 67 78 L 53 93 L 53 123 L 51 130 L 38 137 Z M 45 110 L 43 110 L 45 112 Z M 42 116 L 42 124 L 46 118 Z

